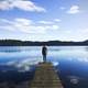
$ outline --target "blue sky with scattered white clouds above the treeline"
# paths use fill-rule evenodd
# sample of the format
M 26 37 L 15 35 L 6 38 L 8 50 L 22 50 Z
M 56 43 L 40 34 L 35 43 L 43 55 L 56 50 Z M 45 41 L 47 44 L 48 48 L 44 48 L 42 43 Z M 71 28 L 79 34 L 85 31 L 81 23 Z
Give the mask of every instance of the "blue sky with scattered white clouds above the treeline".
M 0 0 L 0 38 L 88 40 L 88 0 Z

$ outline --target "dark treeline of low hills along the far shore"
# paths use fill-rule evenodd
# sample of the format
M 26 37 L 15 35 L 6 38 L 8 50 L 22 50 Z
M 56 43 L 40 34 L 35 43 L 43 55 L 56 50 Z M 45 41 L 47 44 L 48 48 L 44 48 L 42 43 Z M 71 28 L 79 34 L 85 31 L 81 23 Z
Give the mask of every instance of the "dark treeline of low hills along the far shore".
M 88 41 L 84 42 L 62 42 L 62 41 L 48 41 L 48 42 L 32 42 L 32 41 L 19 41 L 19 40 L 0 40 L 0 46 L 41 46 L 41 45 L 88 45 Z

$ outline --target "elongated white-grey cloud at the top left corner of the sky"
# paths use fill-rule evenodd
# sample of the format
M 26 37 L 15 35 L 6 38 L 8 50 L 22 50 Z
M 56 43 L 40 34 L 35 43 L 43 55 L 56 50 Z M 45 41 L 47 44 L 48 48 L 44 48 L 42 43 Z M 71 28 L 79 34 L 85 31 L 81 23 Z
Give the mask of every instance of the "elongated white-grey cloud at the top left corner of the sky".
M 0 10 L 11 10 L 11 9 L 20 9 L 24 11 L 36 11 L 36 12 L 45 12 L 46 10 L 42 7 L 36 6 L 34 2 L 29 0 L 1 0 L 0 1 Z

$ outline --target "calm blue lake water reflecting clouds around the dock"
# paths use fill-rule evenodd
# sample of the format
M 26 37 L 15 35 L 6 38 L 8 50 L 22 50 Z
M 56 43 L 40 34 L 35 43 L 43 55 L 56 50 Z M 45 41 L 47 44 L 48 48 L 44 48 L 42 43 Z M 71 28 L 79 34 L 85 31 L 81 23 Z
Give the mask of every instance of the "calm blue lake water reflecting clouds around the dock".
M 32 79 L 38 62 L 43 62 L 41 46 L 0 46 L 0 82 Z M 52 62 L 65 88 L 88 88 L 88 47 L 48 46 L 47 62 Z

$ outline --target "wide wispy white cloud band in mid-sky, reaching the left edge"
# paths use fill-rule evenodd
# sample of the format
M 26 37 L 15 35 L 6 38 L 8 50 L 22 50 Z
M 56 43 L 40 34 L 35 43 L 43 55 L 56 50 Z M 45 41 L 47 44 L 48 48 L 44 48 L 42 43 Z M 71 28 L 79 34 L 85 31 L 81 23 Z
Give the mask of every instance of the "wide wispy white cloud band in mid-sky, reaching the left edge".
M 41 23 L 38 24 L 38 22 L 34 23 L 32 20 L 21 19 L 21 18 L 16 18 L 12 21 L 9 21 L 7 19 L 0 19 L 0 29 L 7 30 L 7 31 L 44 34 L 48 30 L 51 31 L 51 30 L 59 29 L 59 26 L 56 24 L 48 24 L 48 25 L 47 24 L 41 24 Z

